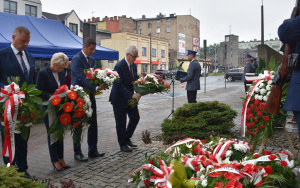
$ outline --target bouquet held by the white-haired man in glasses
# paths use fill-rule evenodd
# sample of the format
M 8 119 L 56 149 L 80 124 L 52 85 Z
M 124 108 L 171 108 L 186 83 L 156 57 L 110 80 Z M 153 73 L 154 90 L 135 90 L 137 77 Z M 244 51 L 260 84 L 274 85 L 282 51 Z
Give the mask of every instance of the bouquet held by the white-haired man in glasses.
M 146 74 L 144 77 L 137 79 L 133 83 L 133 87 L 134 91 L 141 96 L 149 93 L 169 92 L 170 90 L 170 84 L 155 74 Z M 132 98 L 128 101 L 128 104 L 134 108 L 138 104 L 138 101 Z

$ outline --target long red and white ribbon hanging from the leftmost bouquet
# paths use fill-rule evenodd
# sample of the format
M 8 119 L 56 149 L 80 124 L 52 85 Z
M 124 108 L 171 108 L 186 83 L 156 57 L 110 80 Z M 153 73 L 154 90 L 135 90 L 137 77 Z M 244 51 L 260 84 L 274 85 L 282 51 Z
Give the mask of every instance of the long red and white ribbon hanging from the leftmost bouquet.
M 25 98 L 25 92 L 20 91 L 17 84 L 12 83 L 10 85 L 1 88 L 0 102 L 5 102 L 4 107 L 4 126 L 5 136 L 3 143 L 2 156 L 9 157 L 9 163 L 12 163 L 15 155 L 15 128 L 18 117 L 19 105 Z

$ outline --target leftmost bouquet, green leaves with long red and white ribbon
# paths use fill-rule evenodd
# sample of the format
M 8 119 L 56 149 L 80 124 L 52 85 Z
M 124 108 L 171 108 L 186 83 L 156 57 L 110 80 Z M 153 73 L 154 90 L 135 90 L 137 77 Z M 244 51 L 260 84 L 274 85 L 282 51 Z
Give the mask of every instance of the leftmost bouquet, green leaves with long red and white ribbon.
M 2 155 L 9 156 L 10 163 L 15 152 L 14 133 L 27 140 L 29 127 L 38 124 L 41 118 L 39 106 L 42 100 L 38 97 L 41 91 L 26 82 L 19 88 L 19 81 L 19 77 L 8 79 L 10 85 L 1 88 L 0 93 L 0 119 L 5 126 Z

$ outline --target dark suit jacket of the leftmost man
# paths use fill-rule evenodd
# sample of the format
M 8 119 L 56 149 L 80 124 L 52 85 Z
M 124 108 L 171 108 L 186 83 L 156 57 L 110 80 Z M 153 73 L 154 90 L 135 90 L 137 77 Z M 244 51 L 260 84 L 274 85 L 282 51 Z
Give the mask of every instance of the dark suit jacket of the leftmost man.
M 27 84 L 34 84 L 35 76 L 35 65 L 33 56 L 25 50 L 25 54 L 30 66 L 28 80 L 26 80 L 23 70 L 17 60 L 16 55 L 10 46 L 0 50 L 0 88 L 4 88 L 5 85 L 8 85 L 7 78 L 12 76 L 19 76 L 20 82 L 19 86 L 21 87 L 24 82 Z

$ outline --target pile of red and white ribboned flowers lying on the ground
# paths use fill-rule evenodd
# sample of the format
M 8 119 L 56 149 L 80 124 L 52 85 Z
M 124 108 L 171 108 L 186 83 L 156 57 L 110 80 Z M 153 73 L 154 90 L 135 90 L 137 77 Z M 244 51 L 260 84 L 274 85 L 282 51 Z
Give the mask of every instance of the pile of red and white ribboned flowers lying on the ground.
M 187 138 L 146 161 L 130 174 L 137 187 L 249 188 L 295 185 L 295 163 L 286 152 L 250 153 L 234 139 L 205 142 Z M 297 164 L 299 165 L 299 164 Z

